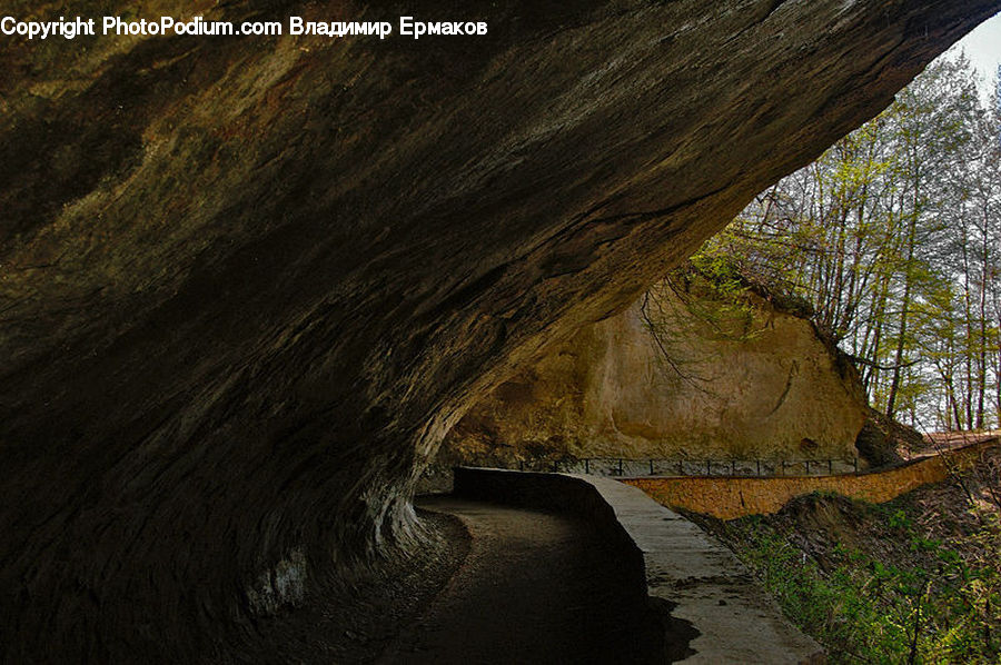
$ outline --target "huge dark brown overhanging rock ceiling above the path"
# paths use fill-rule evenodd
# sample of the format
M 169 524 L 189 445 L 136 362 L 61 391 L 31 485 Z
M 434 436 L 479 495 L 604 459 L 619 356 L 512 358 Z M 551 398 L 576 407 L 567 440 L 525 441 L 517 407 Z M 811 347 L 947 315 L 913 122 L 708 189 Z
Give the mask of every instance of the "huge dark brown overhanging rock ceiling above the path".
M 262 580 L 407 547 L 464 409 L 999 7 L 81 0 L 489 34 L 3 37 L 3 659 L 192 661 Z

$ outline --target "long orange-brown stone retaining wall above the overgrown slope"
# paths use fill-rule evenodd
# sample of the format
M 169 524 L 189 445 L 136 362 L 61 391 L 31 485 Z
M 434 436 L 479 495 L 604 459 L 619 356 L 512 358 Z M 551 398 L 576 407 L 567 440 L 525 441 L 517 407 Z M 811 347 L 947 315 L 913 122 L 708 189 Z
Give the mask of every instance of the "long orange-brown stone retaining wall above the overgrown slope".
M 721 519 L 735 519 L 747 515 L 777 513 L 791 499 L 813 492 L 833 492 L 882 504 L 922 485 L 945 480 L 950 469 L 969 466 L 978 460 L 984 450 L 997 445 L 995 438 L 885 470 L 839 476 L 642 477 L 624 478 L 622 482 L 638 487 L 664 506 L 684 508 Z

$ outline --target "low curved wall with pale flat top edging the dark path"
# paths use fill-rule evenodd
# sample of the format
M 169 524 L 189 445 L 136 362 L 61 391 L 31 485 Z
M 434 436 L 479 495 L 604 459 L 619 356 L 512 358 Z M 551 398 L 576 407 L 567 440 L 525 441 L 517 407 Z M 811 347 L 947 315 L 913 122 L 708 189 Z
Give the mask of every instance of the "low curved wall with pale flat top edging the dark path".
M 820 645 L 782 616 L 733 553 L 635 487 L 595 476 L 460 467 L 454 493 L 579 515 L 607 533 L 622 565 L 636 573 L 638 598 L 663 622 L 664 653 L 655 662 L 824 662 Z

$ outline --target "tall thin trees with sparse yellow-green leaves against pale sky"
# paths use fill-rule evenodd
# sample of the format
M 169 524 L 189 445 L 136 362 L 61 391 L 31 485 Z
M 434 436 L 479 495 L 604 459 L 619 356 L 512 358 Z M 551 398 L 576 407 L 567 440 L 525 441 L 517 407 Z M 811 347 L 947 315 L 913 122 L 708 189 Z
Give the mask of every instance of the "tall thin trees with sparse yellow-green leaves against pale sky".
M 1001 419 L 1001 106 L 962 58 L 762 192 L 693 258 L 723 292 L 805 300 L 871 405 L 923 429 Z

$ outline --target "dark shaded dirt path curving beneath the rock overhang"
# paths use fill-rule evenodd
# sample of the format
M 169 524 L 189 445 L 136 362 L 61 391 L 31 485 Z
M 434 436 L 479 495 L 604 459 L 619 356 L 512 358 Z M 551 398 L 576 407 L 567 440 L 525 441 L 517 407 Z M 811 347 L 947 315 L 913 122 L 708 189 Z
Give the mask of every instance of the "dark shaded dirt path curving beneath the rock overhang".
M 420 507 L 459 517 L 465 563 L 378 661 L 395 663 L 635 663 L 642 624 L 609 544 L 572 518 L 448 497 Z M 645 651 L 645 649 L 644 649 Z

